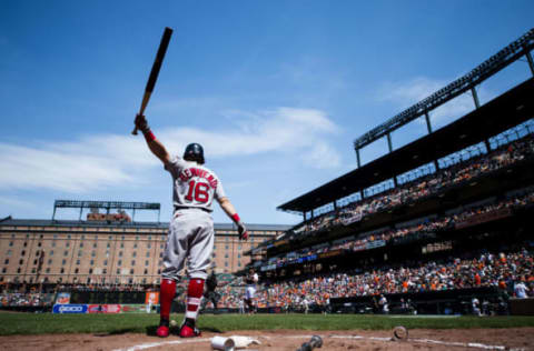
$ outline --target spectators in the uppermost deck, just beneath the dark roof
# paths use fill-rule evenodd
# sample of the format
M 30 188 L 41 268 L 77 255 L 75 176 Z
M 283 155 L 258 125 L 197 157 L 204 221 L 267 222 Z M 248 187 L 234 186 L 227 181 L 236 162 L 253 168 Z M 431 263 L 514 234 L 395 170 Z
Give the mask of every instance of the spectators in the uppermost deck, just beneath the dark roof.
M 297 225 L 291 235 L 309 234 L 325 228 L 349 223 L 366 215 L 411 203 L 431 194 L 444 191 L 446 188 L 473 180 L 513 163 L 531 158 L 534 154 L 534 136 L 528 134 L 520 140 L 493 150 L 482 157 L 473 158 L 434 174 L 404 183 L 372 198 L 350 203 L 336 211 L 328 212 L 310 221 Z

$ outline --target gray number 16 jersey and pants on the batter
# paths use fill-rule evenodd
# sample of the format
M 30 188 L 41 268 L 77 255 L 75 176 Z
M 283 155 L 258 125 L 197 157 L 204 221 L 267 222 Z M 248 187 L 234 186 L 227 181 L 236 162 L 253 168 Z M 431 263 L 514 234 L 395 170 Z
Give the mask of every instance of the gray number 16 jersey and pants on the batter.
M 214 199 L 225 197 L 217 176 L 206 167 L 175 157 L 166 170 L 172 176 L 175 213 L 164 254 L 167 279 L 179 280 L 187 259 L 190 278 L 206 279 L 214 250 Z

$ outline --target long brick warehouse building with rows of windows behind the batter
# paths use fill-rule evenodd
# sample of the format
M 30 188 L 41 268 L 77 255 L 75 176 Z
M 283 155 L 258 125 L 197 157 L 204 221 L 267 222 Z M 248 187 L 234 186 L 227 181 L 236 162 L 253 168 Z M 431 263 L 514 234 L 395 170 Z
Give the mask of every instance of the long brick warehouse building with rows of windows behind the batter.
M 243 252 L 287 230 L 247 224 L 239 242 L 230 223 L 215 224 L 216 272 L 234 273 Z M 158 284 L 168 223 L 0 220 L 0 283 Z

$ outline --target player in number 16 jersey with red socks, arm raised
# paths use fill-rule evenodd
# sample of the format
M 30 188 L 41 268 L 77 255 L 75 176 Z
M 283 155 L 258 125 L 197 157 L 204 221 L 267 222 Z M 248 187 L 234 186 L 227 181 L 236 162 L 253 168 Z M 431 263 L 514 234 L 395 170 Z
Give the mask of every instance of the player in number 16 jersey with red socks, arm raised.
M 136 117 L 136 127 L 144 133 L 150 151 L 161 160 L 165 169 L 172 177 L 174 214 L 164 253 L 159 292 L 160 323 L 156 333 L 160 338 L 169 335 L 170 307 L 175 298 L 176 283 L 181 279 L 180 271 L 187 259 L 189 284 L 186 315 L 179 335 L 181 338 L 198 337 L 200 331 L 195 324 L 214 250 L 215 233 L 211 218 L 214 199 L 237 224 L 239 240 L 247 240 L 248 232 L 226 197 L 219 178 L 204 167 L 204 149 L 200 144 L 188 144 L 182 157 L 171 157 L 151 132 L 145 116 Z

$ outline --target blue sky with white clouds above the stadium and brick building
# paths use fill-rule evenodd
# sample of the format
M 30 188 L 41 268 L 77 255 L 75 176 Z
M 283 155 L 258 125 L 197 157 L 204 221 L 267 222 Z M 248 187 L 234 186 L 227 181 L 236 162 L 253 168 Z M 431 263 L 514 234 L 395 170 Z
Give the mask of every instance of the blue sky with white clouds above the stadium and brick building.
M 168 221 L 170 177 L 130 134 L 165 27 L 155 134 L 171 153 L 201 143 L 246 222 L 293 224 L 277 205 L 354 170 L 355 138 L 516 40 L 532 13 L 530 0 L 0 1 L 0 218 L 49 219 L 73 199 L 160 202 Z M 530 74 L 514 63 L 482 102 Z M 472 108 L 461 97 L 433 123 Z M 394 147 L 424 132 L 415 121 Z

